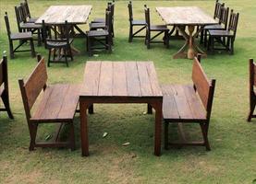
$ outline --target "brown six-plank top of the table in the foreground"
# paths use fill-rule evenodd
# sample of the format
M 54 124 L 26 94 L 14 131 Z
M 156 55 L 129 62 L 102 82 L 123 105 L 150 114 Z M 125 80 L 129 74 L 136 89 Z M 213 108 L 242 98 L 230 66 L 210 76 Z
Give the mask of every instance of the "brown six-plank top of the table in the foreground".
M 80 97 L 163 98 L 152 62 L 87 62 Z

